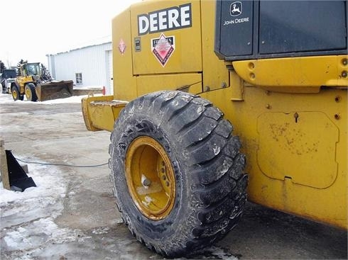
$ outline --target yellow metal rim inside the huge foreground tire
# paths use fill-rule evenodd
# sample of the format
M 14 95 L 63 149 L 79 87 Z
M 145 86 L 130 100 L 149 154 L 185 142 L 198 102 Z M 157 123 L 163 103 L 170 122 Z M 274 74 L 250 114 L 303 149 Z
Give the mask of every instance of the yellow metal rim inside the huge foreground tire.
M 137 137 L 126 152 L 126 182 L 138 210 L 151 220 L 170 214 L 175 201 L 175 175 L 159 142 Z

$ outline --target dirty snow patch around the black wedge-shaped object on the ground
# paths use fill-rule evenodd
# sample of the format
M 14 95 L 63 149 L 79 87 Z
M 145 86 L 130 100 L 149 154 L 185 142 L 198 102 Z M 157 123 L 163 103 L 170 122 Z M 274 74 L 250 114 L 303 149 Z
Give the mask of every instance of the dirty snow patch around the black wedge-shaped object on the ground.
M 61 228 L 54 222 L 62 213 L 67 192 L 62 172 L 38 164 L 28 165 L 28 172 L 37 187 L 8 191 L 0 182 L 1 251 L 16 259 L 33 259 L 33 252 L 47 244 L 86 239 L 80 230 Z

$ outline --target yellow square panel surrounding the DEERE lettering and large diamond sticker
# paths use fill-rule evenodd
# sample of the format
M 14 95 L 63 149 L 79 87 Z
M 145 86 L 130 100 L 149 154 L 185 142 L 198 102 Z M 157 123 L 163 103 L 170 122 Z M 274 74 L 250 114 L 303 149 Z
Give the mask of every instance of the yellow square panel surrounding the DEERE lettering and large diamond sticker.
M 141 51 L 133 52 L 134 74 L 167 74 L 167 73 L 187 73 L 202 71 L 202 43 L 200 40 L 200 1 L 191 1 L 192 25 L 195 28 L 186 28 L 185 30 L 159 31 L 158 33 L 147 33 L 140 37 Z M 138 15 L 141 13 L 151 13 L 153 10 L 163 10 L 168 6 L 180 6 L 187 4 L 187 1 L 157 1 L 156 3 L 148 1 L 134 6 L 131 9 L 131 34 L 132 39 L 138 38 Z M 189 8 L 187 6 L 187 9 Z M 168 23 L 168 19 L 167 19 Z M 158 22 L 155 28 L 159 27 Z M 172 33 L 175 32 L 175 33 Z M 163 66 L 158 62 L 152 53 L 152 40 L 173 36 L 173 54 L 168 63 Z M 183 48 L 185 46 L 185 48 Z

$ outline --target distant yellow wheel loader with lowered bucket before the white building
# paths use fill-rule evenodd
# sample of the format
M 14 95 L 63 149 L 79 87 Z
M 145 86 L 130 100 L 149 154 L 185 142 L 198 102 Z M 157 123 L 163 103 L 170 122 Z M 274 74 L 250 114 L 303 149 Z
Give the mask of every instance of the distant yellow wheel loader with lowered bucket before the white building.
M 40 63 L 19 64 L 16 81 L 11 83 L 11 94 L 14 101 L 47 101 L 72 96 L 73 81 L 52 81 L 44 77 Z

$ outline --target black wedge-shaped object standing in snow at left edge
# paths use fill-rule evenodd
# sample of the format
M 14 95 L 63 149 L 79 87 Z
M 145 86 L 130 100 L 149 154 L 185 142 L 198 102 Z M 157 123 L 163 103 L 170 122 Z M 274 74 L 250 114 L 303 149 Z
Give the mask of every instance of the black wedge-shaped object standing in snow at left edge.
M 16 158 L 10 150 L 6 150 L 7 168 L 9 171 L 9 181 L 11 187 L 20 188 L 24 191 L 29 187 L 36 187 L 36 183 L 28 177 L 26 171 L 18 164 Z M 16 189 L 17 190 L 17 189 Z

